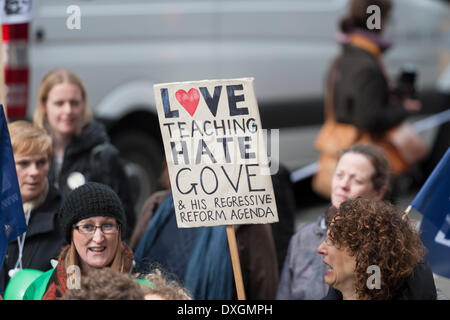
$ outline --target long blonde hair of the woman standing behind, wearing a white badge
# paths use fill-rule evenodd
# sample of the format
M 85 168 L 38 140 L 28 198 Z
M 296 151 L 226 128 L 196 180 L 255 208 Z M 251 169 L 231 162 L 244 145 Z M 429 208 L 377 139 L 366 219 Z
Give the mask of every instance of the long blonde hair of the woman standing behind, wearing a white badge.
M 48 93 L 50 90 L 62 83 L 70 83 L 77 86 L 81 91 L 81 97 L 85 104 L 84 113 L 81 119 L 81 128 L 85 127 L 92 120 L 92 111 L 89 108 L 87 91 L 86 88 L 81 81 L 80 77 L 78 77 L 72 71 L 66 69 L 55 69 L 47 73 L 47 75 L 42 78 L 42 81 L 39 85 L 38 93 L 37 93 L 37 106 L 34 110 L 33 115 L 33 123 L 37 125 L 39 128 L 47 129 L 47 119 L 45 115 L 45 106 L 47 104 Z M 77 134 L 80 134 L 77 132 Z

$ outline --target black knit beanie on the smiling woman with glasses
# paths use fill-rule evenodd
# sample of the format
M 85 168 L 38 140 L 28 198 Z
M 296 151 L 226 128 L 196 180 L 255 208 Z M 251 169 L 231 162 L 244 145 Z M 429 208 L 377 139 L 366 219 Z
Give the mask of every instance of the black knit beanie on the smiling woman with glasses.
M 125 235 L 126 216 L 122 202 L 107 185 L 88 182 L 72 190 L 64 199 L 59 210 L 63 234 L 68 243 L 72 239 L 72 226 L 90 217 L 107 216 L 120 224 L 122 237 Z

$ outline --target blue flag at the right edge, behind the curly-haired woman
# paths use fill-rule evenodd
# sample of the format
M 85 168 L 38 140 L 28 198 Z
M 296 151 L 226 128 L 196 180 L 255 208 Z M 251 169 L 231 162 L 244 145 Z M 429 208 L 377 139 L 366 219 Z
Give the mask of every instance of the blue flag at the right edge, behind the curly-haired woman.
M 450 148 L 439 161 L 411 206 L 423 214 L 422 242 L 434 273 L 450 278 Z

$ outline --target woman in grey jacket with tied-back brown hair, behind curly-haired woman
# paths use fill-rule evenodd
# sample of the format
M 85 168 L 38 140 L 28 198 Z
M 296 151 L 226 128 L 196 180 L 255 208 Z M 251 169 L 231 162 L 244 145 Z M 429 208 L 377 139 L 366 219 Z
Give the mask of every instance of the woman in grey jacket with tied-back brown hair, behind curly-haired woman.
M 317 247 L 325 240 L 328 211 L 348 199 L 383 199 L 389 190 L 390 168 L 383 152 L 373 145 L 356 144 L 339 153 L 331 183 L 331 203 L 316 221 L 302 226 L 291 238 L 278 285 L 278 300 L 319 300 L 329 286 Z

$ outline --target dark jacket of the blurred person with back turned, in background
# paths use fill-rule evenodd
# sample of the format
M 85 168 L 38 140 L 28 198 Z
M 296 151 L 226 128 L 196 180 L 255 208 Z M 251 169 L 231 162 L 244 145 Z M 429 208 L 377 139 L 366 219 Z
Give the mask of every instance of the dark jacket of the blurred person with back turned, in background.
M 338 122 L 374 134 L 384 133 L 408 115 L 400 99 L 391 95 L 387 79 L 374 55 L 346 44 L 330 73 L 335 77 L 334 113 Z

